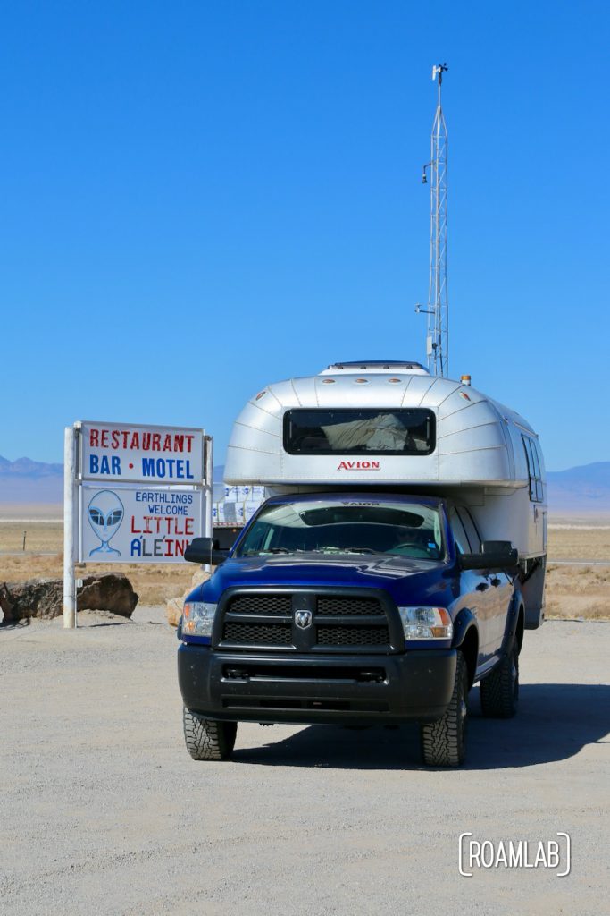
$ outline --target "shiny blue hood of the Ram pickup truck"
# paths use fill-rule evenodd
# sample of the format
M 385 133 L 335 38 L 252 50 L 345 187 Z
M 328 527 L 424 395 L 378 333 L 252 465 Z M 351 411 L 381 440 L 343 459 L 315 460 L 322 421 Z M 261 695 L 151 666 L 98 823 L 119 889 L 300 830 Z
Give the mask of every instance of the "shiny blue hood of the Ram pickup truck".
M 199 586 L 191 600 L 218 602 L 228 588 L 381 588 L 397 604 L 446 606 L 451 575 L 443 562 L 386 554 L 279 554 L 230 559 Z

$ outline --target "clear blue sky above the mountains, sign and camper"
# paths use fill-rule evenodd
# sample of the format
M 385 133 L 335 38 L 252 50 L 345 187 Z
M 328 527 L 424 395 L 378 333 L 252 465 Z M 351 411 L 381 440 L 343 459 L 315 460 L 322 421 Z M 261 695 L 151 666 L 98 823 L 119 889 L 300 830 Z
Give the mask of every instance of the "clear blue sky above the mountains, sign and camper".
M 204 426 L 337 359 L 423 360 L 447 60 L 451 375 L 547 466 L 610 460 L 602 3 L 5 5 L 0 454 Z

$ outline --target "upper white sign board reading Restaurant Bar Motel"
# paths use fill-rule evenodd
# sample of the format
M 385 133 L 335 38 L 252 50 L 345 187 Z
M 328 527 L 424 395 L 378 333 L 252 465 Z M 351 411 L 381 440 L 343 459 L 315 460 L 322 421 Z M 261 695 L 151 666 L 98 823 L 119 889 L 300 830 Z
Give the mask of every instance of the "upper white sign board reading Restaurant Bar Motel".
M 83 480 L 203 483 L 203 430 L 83 420 L 80 443 Z

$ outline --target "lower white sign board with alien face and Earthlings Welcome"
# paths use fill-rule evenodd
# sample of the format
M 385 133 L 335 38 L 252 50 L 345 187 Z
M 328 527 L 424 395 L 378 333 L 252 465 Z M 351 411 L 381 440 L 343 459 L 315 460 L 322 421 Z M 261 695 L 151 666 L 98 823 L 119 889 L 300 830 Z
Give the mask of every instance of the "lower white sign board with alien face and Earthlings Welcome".
M 201 489 L 84 484 L 79 560 L 180 562 L 190 541 L 203 533 L 202 503 Z

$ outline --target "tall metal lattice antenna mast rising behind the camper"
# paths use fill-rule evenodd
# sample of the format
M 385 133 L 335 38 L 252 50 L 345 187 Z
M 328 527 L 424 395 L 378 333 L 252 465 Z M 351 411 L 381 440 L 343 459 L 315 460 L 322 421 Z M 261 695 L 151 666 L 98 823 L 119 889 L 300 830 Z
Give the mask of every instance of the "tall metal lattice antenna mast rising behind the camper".
M 430 162 L 423 167 L 422 182 L 428 183 L 430 169 L 430 287 L 428 290 L 428 331 L 426 356 L 434 376 L 447 376 L 449 370 L 449 299 L 447 293 L 447 125 L 441 104 L 446 63 L 433 67 L 438 100 L 431 137 Z

